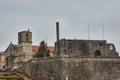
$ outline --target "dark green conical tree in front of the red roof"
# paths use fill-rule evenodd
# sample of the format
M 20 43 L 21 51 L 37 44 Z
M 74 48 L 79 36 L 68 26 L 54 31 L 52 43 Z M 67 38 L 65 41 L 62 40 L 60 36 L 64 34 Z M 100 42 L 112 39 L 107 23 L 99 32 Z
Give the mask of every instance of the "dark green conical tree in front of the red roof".
M 45 41 L 41 41 L 39 50 L 35 54 L 35 57 L 40 58 L 40 57 L 49 57 L 49 56 L 50 56 L 50 51 L 47 49 L 47 44 L 45 44 Z

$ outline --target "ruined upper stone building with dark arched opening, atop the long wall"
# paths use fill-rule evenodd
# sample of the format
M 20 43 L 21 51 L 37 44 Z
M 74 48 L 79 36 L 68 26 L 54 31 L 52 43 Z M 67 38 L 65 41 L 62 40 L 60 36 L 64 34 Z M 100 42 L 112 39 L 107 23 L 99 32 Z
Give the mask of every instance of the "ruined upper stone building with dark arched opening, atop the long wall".
M 56 44 L 58 45 L 58 43 Z M 59 41 L 61 56 L 67 57 L 118 57 L 114 44 L 106 40 L 72 40 Z M 58 48 L 55 47 L 57 54 Z

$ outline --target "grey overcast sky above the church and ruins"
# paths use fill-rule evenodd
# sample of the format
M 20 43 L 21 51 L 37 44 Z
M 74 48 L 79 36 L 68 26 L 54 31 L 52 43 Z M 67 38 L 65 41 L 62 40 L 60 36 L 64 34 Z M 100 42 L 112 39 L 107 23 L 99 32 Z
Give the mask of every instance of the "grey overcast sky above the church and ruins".
M 60 22 L 60 38 L 104 39 L 120 52 L 120 0 L 0 0 L 0 51 L 17 33 L 30 29 L 33 44 L 56 41 L 55 24 Z

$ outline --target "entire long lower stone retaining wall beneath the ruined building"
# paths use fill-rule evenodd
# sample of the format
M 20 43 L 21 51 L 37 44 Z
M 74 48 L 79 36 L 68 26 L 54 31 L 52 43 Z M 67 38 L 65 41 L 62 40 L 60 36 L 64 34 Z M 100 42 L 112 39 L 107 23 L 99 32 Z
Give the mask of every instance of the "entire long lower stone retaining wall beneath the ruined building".
M 48 80 L 118 80 L 120 58 L 59 58 L 28 62 L 22 67 L 31 77 Z

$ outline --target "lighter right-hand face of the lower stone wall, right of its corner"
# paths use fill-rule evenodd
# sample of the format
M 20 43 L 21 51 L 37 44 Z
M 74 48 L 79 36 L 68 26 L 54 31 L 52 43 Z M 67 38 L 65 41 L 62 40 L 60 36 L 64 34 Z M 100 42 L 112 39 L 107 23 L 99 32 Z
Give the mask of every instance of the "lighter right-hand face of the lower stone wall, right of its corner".
M 63 58 L 63 63 L 70 80 L 118 80 L 120 75 L 120 59 Z

